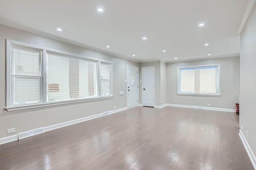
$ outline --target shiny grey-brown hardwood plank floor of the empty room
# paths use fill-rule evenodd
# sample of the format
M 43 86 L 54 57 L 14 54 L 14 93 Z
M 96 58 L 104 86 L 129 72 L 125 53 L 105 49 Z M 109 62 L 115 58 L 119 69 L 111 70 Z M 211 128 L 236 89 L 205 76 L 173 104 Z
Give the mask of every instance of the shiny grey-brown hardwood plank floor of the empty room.
M 236 113 L 136 107 L 0 145 L 1 170 L 253 170 Z

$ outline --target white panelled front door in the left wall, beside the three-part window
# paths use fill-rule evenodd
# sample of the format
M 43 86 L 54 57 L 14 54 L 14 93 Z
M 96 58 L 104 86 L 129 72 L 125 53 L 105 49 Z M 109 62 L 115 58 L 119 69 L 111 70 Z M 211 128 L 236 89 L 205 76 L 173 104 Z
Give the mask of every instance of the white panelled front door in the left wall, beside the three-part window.
M 138 106 L 138 67 L 127 66 L 127 107 Z

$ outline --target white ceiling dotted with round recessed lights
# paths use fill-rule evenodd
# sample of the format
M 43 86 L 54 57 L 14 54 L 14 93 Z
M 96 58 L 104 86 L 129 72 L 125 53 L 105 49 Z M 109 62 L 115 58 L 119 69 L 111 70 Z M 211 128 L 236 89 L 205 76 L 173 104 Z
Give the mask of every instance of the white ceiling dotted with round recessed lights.
M 249 1 L 1 0 L 0 23 L 136 61 L 172 62 L 237 56 Z

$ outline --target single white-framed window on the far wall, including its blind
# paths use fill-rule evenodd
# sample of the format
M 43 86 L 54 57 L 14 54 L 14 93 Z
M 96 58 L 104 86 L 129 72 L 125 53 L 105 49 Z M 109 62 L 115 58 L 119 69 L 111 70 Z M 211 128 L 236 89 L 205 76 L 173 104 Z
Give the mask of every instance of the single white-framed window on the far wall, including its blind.
M 220 64 L 178 67 L 178 94 L 220 96 Z

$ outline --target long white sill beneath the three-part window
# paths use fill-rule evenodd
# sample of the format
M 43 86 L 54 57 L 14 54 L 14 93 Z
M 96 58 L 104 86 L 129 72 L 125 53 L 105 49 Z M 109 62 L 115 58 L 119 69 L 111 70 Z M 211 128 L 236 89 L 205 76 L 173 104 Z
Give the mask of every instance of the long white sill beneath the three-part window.
M 36 104 L 36 105 L 30 105 L 30 106 L 14 106 L 14 107 L 5 107 L 7 111 L 14 111 L 14 110 L 23 110 L 23 109 L 32 109 L 32 108 L 38 108 L 38 107 L 47 107 L 47 106 L 57 106 L 62 104 L 72 104 L 72 103 L 78 103 L 78 102 L 88 102 L 88 101 L 94 101 L 94 100 L 104 100 L 104 99 L 111 99 L 114 96 L 106 96 L 106 97 L 98 97 L 98 98 L 90 98 L 90 99 L 80 99 L 80 100 L 72 100 L 72 101 L 58 101 L 58 102 L 50 102 L 45 104 Z

